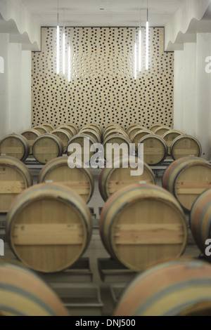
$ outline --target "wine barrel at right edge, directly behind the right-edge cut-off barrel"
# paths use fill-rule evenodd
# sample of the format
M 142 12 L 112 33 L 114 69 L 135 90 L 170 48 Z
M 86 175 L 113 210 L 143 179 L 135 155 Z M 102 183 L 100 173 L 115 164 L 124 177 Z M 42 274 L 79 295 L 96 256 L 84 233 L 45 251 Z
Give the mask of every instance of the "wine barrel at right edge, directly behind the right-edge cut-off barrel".
M 184 209 L 191 211 L 197 197 L 211 187 L 211 165 L 198 157 L 177 159 L 165 171 L 162 187 L 174 194 Z

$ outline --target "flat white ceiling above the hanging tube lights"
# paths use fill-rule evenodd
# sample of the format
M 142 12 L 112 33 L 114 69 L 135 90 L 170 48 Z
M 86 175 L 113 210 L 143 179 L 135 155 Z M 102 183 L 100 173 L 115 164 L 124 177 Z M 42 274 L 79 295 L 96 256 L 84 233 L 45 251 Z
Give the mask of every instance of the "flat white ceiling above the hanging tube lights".
M 41 26 L 133 27 L 146 22 L 147 0 L 22 0 Z M 149 23 L 165 26 L 184 0 L 148 0 Z M 65 11 L 63 10 L 65 8 Z M 140 11 L 141 10 L 141 11 Z

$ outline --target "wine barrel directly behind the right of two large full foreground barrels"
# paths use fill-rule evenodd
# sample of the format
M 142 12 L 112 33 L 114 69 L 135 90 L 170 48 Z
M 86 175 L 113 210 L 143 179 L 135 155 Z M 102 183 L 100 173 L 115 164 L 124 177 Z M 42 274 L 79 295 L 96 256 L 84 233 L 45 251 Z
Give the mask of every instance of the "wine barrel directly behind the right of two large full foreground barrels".
M 139 164 L 143 166 L 143 173 L 134 176 L 132 176 L 132 172 L 137 170 L 137 167 L 134 169 L 134 166 L 137 166 L 138 157 L 134 160 L 129 160 L 128 157 L 115 159 L 111 165 L 108 164 L 101 171 L 98 186 L 101 197 L 105 202 L 112 194 L 127 185 L 132 185 L 132 183 L 145 181 L 146 183 L 155 184 L 155 176 L 151 168 L 140 159 L 139 161 Z

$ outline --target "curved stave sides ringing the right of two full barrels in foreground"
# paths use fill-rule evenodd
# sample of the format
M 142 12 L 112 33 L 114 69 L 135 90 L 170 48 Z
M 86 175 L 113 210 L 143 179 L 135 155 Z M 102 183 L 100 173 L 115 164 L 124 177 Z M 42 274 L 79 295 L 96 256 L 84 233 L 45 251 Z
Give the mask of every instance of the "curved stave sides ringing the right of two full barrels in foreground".
M 115 194 L 113 194 L 108 201 L 106 202 L 103 211 L 101 212 L 101 218 L 100 218 L 100 222 L 99 222 L 99 228 L 100 228 L 100 234 L 101 234 L 101 240 L 103 242 L 103 245 L 106 248 L 106 251 L 108 251 L 108 253 L 110 254 L 110 256 L 112 256 L 113 258 L 115 258 L 115 260 L 117 260 L 118 262 L 122 263 L 122 265 L 124 265 L 125 267 L 129 268 L 130 270 L 133 270 L 135 272 L 140 272 L 143 269 L 137 269 L 134 268 L 134 265 L 128 265 L 126 264 L 124 261 L 120 260 L 120 257 L 115 255 L 115 248 L 113 248 L 112 244 L 111 244 L 111 239 L 109 237 L 109 233 L 111 231 L 111 228 L 109 227 L 110 223 L 112 222 L 110 219 L 115 220 L 115 216 L 117 216 L 118 213 L 118 207 L 126 204 L 129 204 L 129 199 L 127 199 L 127 194 L 129 192 L 129 190 L 137 190 L 137 188 L 153 188 L 154 190 L 158 190 L 158 192 L 162 192 L 162 195 L 159 198 L 166 198 L 167 201 L 169 201 L 170 203 L 173 202 L 174 206 L 177 206 L 177 211 L 181 217 L 181 219 L 183 219 L 183 228 L 184 228 L 184 244 L 182 245 L 179 255 L 174 256 L 174 258 L 178 258 L 179 256 L 181 256 L 182 253 L 184 253 L 184 250 L 186 249 L 186 243 L 187 243 L 187 237 L 188 237 L 188 232 L 187 232 L 187 227 L 186 227 L 186 220 L 185 220 L 185 216 L 184 216 L 184 212 L 181 209 L 181 206 L 179 205 L 179 203 L 177 202 L 177 200 L 172 196 L 172 194 L 167 193 L 166 190 L 162 189 L 161 187 L 155 186 L 155 185 L 146 185 L 146 184 L 134 184 L 134 185 L 129 185 L 127 187 L 122 188 L 121 190 L 115 192 Z M 153 191 L 153 190 L 151 190 Z M 138 198 L 140 197 L 140 192 L 137 195 Z M 120 198 L 122 198 L 122 196 L 124 197 L 124 202 L 122 203 L 122 200 L 118 200 Z M 148 198 L 150 198 L 151 194 L 148 194 Z M 126 198 L 125 198 L 126 197 Z M 133 196 L 134 198 L 134 196 Z M 145 197 L 146 198 L 146 197 Z M 133 200 L 133 199 L 131 199 Z M 113 209 L 110 209 L 110 206 L 113 206 Z M 106 220 L 106 216 L 107 219 Z M 110 221 L 109 221 L 110 220 Z M 166 257 L 164 258 L 164 260 L 166 260 Z M 160 260 L 159 260 L 160 261 Z M 161 262 L 161 261 L 160 261 Z

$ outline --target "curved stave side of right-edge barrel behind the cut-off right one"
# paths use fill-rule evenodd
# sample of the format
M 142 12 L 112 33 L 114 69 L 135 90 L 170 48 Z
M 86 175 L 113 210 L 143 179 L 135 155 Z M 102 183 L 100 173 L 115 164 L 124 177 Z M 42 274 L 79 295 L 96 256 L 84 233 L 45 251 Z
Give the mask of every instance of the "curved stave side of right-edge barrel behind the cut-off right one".
M 179 203 L 181 201 L 178 199 L 177 192 L 176 192 L 176 184 L 178 176 L 185 171 L 186 169 L 190 169 L 192 166 L 204 165 L 210 167 L 210 164 L 205 161 L 205 159 L 200 159 L 198 157 L 184 157 L 179 158 L 174 161 L 168 168 L 166 169 L 163 177 L 162 177 L 162 187 L 166 190 L 174 194 L 174 197 L 177 198 Z M 184 204 L 181 206 L 186 209 L 186 211 L 191 211 L 191 208 L 186 208 Z

